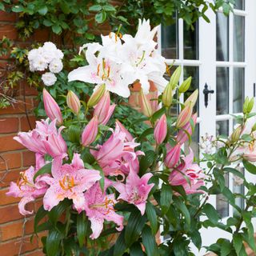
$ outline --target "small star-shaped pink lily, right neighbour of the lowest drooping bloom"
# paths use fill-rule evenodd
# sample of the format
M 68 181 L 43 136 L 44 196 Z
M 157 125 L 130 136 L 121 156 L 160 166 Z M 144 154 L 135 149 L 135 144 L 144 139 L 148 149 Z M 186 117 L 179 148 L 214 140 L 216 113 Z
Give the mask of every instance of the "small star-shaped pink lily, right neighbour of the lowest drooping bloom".
M 153 174 L 147 173 L 139 178 L 133 170 L 130 170 L 126 178 L 126 184 L 115 182 L 114 188 L 120 193 L 118 199 L 134 204 L 140 210 L 141 214 L 145 214 L 146 199 L 150 194 L 150 190 L 154 184 L 148 184 Z

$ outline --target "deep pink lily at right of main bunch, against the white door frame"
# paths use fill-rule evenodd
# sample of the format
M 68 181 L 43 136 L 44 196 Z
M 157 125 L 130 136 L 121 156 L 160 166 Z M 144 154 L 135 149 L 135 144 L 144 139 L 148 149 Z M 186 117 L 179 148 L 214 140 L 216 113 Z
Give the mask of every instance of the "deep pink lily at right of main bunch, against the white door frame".
M 204 185 L 205 175 L 202 174 L 202 169 L 198 164 L 193 163 L 193 159 L 194 154 L 190 149 L 190 154 L 183 157 L 183 162 L 177 167 L 177 170 L 170 173 L 169 182 L 171 186 L 183 186 L 186 194 L 204 193 L 198 188 Z M 190 180 L 190 183 L 187 179 Z

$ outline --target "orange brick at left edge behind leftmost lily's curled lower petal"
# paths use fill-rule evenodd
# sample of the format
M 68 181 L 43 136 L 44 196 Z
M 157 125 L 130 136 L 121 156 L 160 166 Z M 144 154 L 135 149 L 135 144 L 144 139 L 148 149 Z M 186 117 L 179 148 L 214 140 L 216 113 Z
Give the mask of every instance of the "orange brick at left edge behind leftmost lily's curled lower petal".
M 34 203 L 30 202 L 26 206 L 27 210 L 34 210 Z M 0 207 L 0 223 L 6 223 L 23 218 L 22 214 L 18 212 L 18 205 L 1 206 Z M 1 251 L 1 250 L 0 250 Z

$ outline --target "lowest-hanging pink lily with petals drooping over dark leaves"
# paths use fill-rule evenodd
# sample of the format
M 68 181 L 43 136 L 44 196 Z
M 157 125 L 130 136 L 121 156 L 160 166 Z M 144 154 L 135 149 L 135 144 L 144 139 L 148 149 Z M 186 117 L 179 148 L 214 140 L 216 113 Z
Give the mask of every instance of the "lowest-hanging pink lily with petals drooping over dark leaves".
M 84 194 L 86 215 L 91 223 L 90 234 L 91 239 L 96 239 L 102 232 L 104 220 L 114 222 L 118 225 L 117 230 L 123 229 L 123 216 L 116 214 L 114 211 L 114 204 L 116 203 L 114 194 L 106 194 L 106 188 L 110 186 L 110 181 L 105 179 L 104 193 L 97 182 L 87 190 Z

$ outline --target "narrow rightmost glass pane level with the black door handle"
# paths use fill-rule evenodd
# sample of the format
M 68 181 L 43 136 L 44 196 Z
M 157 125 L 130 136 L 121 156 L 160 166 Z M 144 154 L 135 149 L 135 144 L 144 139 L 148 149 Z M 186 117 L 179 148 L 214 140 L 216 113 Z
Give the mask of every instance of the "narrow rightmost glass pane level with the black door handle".
M 244 88 L 245 88 L 245 70 L 242 67 L 234 67 L 233 113 L 242 112 Z

